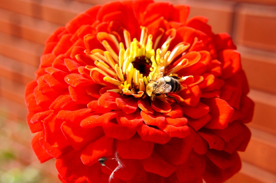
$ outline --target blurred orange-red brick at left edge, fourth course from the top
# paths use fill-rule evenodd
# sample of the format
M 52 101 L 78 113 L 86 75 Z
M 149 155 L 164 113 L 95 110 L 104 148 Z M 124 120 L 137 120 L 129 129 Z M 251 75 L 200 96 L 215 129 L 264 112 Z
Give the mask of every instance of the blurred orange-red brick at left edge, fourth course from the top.
M 34 79 L 36 67 L 0 55 L 0 76 L 26 85 Z

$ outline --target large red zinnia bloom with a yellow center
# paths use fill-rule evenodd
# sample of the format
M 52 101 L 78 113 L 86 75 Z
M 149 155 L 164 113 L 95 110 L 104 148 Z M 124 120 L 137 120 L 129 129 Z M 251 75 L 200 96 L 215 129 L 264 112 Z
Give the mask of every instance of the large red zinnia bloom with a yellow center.
M 254 106 L 240 55 L 227 34 L 188 13 L 116 1 L 47 39 L 26 86 L 27 122 L 35 154 L 56 159 L 60 180 L 209 183 L 239 171 Z M 154 100 L 145 88 L 159 63 L 181 90 Z

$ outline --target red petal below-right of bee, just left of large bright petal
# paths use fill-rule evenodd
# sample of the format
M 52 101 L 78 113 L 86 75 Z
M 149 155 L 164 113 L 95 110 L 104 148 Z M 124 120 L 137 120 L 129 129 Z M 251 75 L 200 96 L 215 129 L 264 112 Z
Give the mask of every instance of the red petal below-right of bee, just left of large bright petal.
M 196 107 L 183 107 L 183 113 L 193 119 L 202 118 L 209 112 L 209 107 L 205 104 L 198 102 Z

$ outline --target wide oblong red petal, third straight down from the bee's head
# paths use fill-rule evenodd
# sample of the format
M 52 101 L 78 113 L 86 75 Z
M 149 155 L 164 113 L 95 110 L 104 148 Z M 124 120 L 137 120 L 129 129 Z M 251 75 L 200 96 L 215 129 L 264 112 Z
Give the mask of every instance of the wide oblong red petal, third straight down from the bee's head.
M 158 144 L 166 144 L 171 139 L 166 132 L 154 129 L 146 124 L 139 126 L 137 133 L 143 141 L 150 141 Z

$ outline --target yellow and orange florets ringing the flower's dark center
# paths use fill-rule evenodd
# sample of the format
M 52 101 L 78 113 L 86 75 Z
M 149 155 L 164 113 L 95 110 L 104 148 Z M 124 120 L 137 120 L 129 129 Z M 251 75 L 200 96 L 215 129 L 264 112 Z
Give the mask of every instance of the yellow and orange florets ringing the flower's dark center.
M 86 66 L 86 69 L 90 71 L 91 78 L 94 81 L 99 81 L 94 77 L 100 73 L 104 75 L 103 79 L 105 82 L 114 84 L 114 88 L 107 91 L 133 95 L 136 98 L 144 97 L 145 87 L 159 63 L 164 63 L 167 74 L 182 69 L 183 63 L 187 63 L 183 59 L 173 69 L 166 70 L 166 66 L 183 53 L 189 45 L 187 43 L 179 43 L 172 51 L 168 51 L 170 42 L 173 39 L 168 36 L 162 47 L 154 50 L 153 45 L 156 47 L 163 35 L 160 35 L 156 39 L 155 44 L 153 44 L 153 36 L 151 34 L 147 35 L 147 28 L 145 27 L 141 28 L 140 41 L 136 38 L 131 41 L 130 33 L 124 30 L 125 43 L 119 43 L 116 36 L 106 32 L 99 32 L 97 39 L 102 43 L 106 51 L 94 49 L 88 52 L 85 50 L 86 55 L 95 63 L 95 66 Z M 105 83 L 99 84 L 106 85 Z

